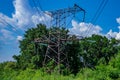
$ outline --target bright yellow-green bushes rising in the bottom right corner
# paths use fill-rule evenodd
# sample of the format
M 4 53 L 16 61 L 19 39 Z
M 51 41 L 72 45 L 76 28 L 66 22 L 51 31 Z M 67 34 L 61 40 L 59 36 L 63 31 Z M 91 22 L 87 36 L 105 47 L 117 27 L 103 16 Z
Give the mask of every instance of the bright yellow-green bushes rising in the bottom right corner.
M 95 70 L 91 70 L 90 68 L 82 69 L 76 76 L 79 80 L 119 80 L 120 79 L 120 69 L 119 67 L 114 67 L 111 64 L 119 64 L 120 62 L 116 62 L 120 60 L 118 58 L 120 53 L 116 55 L 115 58 L 112 58 L 109 62 L 109 65 L 100 64 L 96 66 Z

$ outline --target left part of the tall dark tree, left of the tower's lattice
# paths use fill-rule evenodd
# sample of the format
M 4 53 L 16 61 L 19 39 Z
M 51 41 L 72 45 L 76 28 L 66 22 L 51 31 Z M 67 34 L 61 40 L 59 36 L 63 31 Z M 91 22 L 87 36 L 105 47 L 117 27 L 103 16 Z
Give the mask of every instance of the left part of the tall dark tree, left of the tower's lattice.
M 13 58 L 17 61 L 18 68 L 26 69 L 39 68 L 42 66 L 43 55 L 46 49 L 45 46 L 37 46 L 38 53 L 35 51 L 34 39 L 43 35 L 47 36 L 48 29 L 45 25 L 39 24 L 36 28 L 28 29 L 25 32 L 24 39 L 20 41 L 20 55 L 14 55 Z M 42 47 L 42 49 L 40 48 Z

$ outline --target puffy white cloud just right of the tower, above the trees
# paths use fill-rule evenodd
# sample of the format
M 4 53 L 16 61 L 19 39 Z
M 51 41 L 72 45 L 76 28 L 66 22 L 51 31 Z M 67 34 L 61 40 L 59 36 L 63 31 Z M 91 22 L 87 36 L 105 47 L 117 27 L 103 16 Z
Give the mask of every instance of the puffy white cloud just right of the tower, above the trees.
M 70 28 L 70 33 L 75 35 L 80 35 L 83 37 L 91 36 L 92 34 L 100 34 L 102 28 L 98 25 L 93 25 L 92 23 L 81 22 L 78 23 L 72 20 L 72 28 Z

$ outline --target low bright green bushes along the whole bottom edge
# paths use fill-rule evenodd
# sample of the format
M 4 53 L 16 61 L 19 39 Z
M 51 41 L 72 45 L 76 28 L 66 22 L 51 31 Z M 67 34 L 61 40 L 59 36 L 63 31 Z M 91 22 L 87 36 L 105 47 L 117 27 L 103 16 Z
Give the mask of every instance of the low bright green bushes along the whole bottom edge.
M 120 53 L 116 54 L 115 58 L 111 58 L 108 65 L 99 64 L 95 66 L 95 70 L 83 68 L 76 76 L 73 74 L 63 76 L 54 72 L 48 74 L 43 72 L 42 69 L 4 69 L 3 67 L 6 66 L 7 63 L 1 63 L 0 70 L 2 74 L 0 73 L 0 80 L 120 80 L 119 64 Z

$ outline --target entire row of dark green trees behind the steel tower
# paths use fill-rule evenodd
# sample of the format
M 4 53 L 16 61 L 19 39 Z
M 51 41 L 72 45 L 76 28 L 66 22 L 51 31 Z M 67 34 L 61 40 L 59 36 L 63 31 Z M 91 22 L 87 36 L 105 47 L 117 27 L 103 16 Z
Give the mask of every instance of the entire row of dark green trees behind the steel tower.
M 43 38 L 43 36 L 48 37 L 49 32 L 54 34 L 54 32 L 60 31 L 61 37 L 66 37 L 73 39 L 73 41 L 62 42 L 64 46 L 63 53 L 67 54 L 69 61 L 69 70 L 76 74 L 83 67 L 89 67 L 94 69 L 97 64 L 104 63 L 108 64 L 111 56 L 114 56 L 118 52 L 117 40 L 107 39 L 104 36 L 92 35 L 91 37 L 84 38 L 82 40 L 77 40 L 76 36 L 70 37 L 68 35 L 68 30 L 65 28 L 46 28 L 45 25 L 39 24 L 36 28 L 28 29 L 24 34 L 24 39 L 20 41 L 20 55 L 14 55 L 13 58 L 17 61 L 17 68 L 26 69 L 26 68 L 42 68 L 43 60 L 45 57 L 47 45 L 42 43 L 35 43 L 34 40 L 37 38 Z M 57 35 L 56 35 L 57 36 Z M 51 40 L 54 42 L 57 41 L 57 38 L 54 36 L 51 37 Z M 57 48 L 54 50 L 57 52 Z M 50 51 L 52 54 L 53 51 Z M 50 55 L 55 57 L 55 55 Z M 61 55 L 60 58 L 64 59 L 65 55 Z M 57 59 L 57 58 L 56 58 Z M 48 60 L 47 60 L 48 61 Z M 67 62 L 67 61 L 65 61 Z M 62 68 L 66 68 L 65 62 L 62 62 Z M 50 62 L 48 62 L 49 65 Z M 56 68 L 56 65 L 53 65 L 53 68 Z

